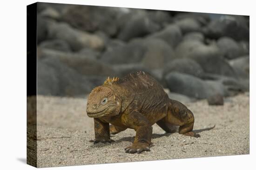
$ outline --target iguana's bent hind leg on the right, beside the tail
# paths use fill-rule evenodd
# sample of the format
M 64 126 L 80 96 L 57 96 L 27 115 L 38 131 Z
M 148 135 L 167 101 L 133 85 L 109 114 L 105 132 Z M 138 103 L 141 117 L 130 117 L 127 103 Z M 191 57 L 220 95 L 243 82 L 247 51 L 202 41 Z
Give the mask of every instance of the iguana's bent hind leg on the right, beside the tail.
M 179 101 L 170 100 L 168 114 L 163 120 L 168 121 L 170 124 L 180 126 L 180 134 L 196 138 L 200 137 L 199 134 L 193 132 L 195 122 L 194 114 Z

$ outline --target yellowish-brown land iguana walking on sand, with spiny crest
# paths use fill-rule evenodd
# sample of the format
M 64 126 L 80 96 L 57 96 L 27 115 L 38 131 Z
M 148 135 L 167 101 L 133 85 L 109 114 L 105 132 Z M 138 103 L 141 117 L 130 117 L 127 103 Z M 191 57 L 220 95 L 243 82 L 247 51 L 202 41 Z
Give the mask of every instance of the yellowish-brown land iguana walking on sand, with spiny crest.
M 166 132 L 174 132 L 172 127 L 179 126 L 180 134 L 200 137 L 192 131 L 193 113 L 181 102 L 169 99 L 162 86 L 144 71 L 124 78 L 108 77 L 89 94 L 87 114 L 94 118 L 94 143 L 112 142 L 110 134 L 134 129 L 135 139 L 125 148 L 127 153 L 150 151 L 155 123 Z

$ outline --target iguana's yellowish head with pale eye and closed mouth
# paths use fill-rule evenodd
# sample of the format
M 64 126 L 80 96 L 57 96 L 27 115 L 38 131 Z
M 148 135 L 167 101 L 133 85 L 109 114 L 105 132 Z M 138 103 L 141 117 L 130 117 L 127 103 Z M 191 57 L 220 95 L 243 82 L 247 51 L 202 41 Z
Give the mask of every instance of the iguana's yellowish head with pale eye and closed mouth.
M 110 117 L 119 114 L 121 99 L 108 86 L 99 86 L 89 94 L 87 115 L 92 118 Z

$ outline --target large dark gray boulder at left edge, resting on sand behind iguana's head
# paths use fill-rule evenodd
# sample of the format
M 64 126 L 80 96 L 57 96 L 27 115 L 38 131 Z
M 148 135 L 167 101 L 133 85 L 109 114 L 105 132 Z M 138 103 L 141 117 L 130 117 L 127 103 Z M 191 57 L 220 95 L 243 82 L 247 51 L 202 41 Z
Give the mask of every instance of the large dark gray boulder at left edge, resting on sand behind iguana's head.
M 86 76 L 81 76 L 57 58 L 39 60 L 37 69 L 37 94 L 85 96 L 94 88 Z

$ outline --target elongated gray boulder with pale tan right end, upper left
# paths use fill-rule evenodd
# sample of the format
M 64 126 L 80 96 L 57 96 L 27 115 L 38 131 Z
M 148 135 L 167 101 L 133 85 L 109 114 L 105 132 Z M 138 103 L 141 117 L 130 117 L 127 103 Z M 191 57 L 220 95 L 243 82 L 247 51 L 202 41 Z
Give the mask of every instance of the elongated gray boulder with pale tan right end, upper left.
M 47 32 L 48 38 L 64 40 L 74 51 L 86 47 L 94 50 L 102 50 L 104 48 L 104 41 L 100 37 L 74 29 L 67 23 L 50 22 L 47 27 Z

